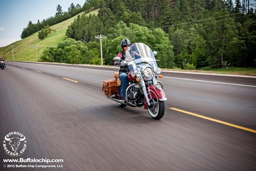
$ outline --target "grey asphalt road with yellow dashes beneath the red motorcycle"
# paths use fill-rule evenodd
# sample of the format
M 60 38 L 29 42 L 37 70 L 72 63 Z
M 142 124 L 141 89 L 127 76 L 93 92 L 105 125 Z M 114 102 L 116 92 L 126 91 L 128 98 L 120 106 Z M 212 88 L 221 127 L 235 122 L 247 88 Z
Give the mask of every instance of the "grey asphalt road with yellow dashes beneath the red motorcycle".
M 255 77 L 163 72 L 166 112 L 154 120 L 143 107 L 121 108 L 103 96 L 102 82 L 116 68 L 6 66 L 0 70 L 1 171 L 256 170 Z M 26 137 L 18 157 L 6 154 L 12 132 Z M 20 158 L 63 162 L 3 161 Z

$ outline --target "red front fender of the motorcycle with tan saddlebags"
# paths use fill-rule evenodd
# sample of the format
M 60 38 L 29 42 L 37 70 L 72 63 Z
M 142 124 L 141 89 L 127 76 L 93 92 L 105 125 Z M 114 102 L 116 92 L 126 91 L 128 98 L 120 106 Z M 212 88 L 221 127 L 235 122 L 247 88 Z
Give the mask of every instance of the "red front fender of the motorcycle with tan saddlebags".
M 167 100 L 166 94 L 164 93 L 162 88 L 160 90 L 158 90 L 155 85 L 151 85 L 151 86 L 148 86 L 146 88 L 146 90 L 147 90 L 149 100 L 151 100 L 151 99 L 157 99 L 157 100 L 160 100 L 160 101 L 166 101 Z M 147 103 L 146 99 L 145 99 L 144 108 L 145 109 L 148 108 L 148 103 Z

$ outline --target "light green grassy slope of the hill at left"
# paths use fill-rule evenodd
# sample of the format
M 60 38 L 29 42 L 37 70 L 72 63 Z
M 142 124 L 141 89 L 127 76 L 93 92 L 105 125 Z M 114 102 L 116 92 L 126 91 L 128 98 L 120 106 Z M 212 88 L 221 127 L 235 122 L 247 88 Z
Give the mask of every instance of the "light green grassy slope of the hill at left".
M 82 15 L 84 12 L 81 12 L 78 15 Z M 92 11 L 89 14 L 98 14 L 98 10 Z M 6 60 L 12 60 L 12 45 L 14 45 L 14 61 L 36 61 L 36 51 L 33 46 L 40 46 L 37 48 L 38 60 L 48 46 L 57 46 L 60 41 L 65 40 L 65 34 L 68 26 L 77 18 L 74 16 L 68 20 L 65 20 L 61 23 L 50 26 L 51 29 L 55 30 L 47 38 L 43 40 L 38 39 L 38 32 L 23 38 L 20 41 L 16 41 L 8 46 L 0 47 L 0 54 L 4 56 Z

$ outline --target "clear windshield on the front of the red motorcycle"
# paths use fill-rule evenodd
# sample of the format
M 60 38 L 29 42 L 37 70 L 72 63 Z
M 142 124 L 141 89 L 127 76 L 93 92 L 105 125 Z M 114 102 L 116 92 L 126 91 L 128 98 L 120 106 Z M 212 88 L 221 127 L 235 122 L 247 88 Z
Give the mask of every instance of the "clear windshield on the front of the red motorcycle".
M 131 75 L 135 77 L 142 63 L 151 65 L 153 70 L 157 69 L 157 62 L 152 50 L 144 43 L 133 43 L 125 52 L 125 58 L 128 60 L 128 67 Z

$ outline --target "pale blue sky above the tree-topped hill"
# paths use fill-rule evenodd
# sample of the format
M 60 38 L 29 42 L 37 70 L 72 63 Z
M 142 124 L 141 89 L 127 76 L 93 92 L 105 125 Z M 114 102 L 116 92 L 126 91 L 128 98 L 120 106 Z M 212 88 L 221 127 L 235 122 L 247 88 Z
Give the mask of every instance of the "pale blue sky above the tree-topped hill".
M 0 0 L 0 47 L 21 40 L 29 21 L 37 23 L 54 17 L 60 5 L 67 12 L 71 3 L 83 6 L 85 0 Z

